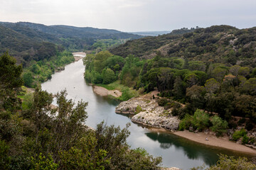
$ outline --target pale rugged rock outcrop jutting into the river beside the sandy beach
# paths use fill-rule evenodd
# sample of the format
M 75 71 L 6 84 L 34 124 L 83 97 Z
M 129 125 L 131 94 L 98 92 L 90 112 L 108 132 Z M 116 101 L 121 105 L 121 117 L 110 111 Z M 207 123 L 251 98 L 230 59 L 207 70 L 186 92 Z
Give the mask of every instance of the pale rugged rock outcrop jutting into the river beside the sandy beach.
M 137 113 L 132 117 L 133 122 L 171 131 L 178 129 L 180 121 L 176 116 L 171 115 L 171 109 L 164 110 L 164 107 L 159 106 L 156 99 L 131 98 L 120 103 L 116 113 Z

